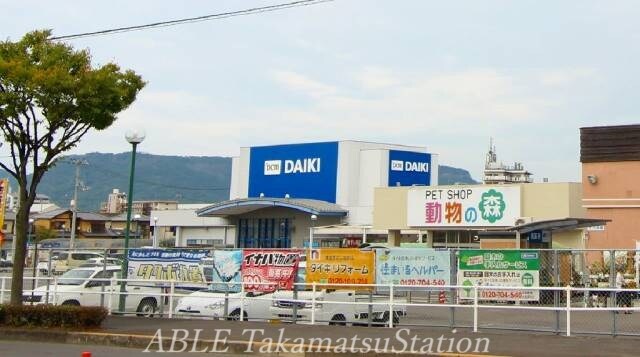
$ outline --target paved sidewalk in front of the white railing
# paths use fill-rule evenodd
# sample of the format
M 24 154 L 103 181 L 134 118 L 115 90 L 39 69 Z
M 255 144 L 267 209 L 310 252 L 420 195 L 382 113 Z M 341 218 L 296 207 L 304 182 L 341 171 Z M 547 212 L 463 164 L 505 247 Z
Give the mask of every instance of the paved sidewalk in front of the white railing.
M 366 354 L 376 355 L 411 355 L 411 350 L 430 348 L 435 355 L 498 355 L 498 356 L 636 356 L 640 339 L 630 337 L 564 337 L 553 334 L 535 332 L 513 331 L 481 331 L 473 333 L 467 329 L 450 330 L 446 328 L 425 327 L 343 327 L 343 326 L 310 326 L 292 325 L 284 323 L 263 322 L 237 322 L 216 320 L 183 320 L 163 318 L 136 318 L 110 316 L 103 323 L 103 328 L 97 331 L 55 331 L 55 330 L 15 330 L 0 329 L 0 339 L 8 340 L 38 340 L 67 343 L 108 344 L 123 347 L 145 349 L 151 344 L 150 349 L 164 348 L 165 352 L 171 347 L 171 338 L 176 334 L 178 339 L 188 341 L 188 348 L 194 350 L 214 347 L 221 351 L 229 347 L 228 353 L 245 354 L 260 353 L 266 355 L 343 355 L 362 356 L 363 353 L 314 353 L 317 349 L 307 353 L 297 353 L 294 347 L 304 343 L 305 348 L 317 345 L 318 341 L 331 343 L 332 347 L 344 347 L 347 350 L 366 347 L 365 341 L 369 339 L 371 347 L 374 342 L 380 342 L 378 349 L 388 353 L 375 353 L 373 350 Z M 217 334 L 217 338 L 216 338 Z M 162 346 L 158 343 L 160 337 Z M 226 342 L 224 339 L 226 338 Z M 297 340 L 296 340 L 297 339 Z M 342 340 L 341 340 L 342 339 Z M 465 351 L 465 339 L 477 344 L 478 339 L 488 340 L 488 353 L 476 353 L 474 348 L 466 348 L 466 354 L 457 353 Z M 197 343 L 193 344 L 196 341 Z M 323 342 L 322 342 L 323 341 Z M 346 342 L 345 342 L 346 341 Z M 385 345 L 384 341 L 388 341 Z M 431 344 L 429 344 L 431 341 Z M 463 341 L 463 342 L 460 342 Z M 280 342 L 283 349 L 267 346 Z M 438 344 L 439 342 L 439 344 Z M 456 348 L 456 343 L 462 343 L 461 348 Z M 193 346 L 195 347 L 193 347 Z M 176 344 L 180 348 L 180 344 Z M 174 347 L 176 347 L 174 346 Z M 317 346 L 316 346 L 317 347 Z M 322 345 L 320 346 L 322 347 Z M 453 347 L 453 348 L 451 348 Z M 263 348 L 263 350 L 260 350 Z M 320 351 L 325 351 L 320 349 Z M 392 353 L 392 352 L 402 353 Z M 478 349 L 482 352 L 482 348 Z M 309 353 L 312 352 L 312 353 Z M 381 351 L 382 352 L 382 351 Z M 444 353 L 440 353 L 444 352 Z M 423 355 L 426 353 L 422 353 Z

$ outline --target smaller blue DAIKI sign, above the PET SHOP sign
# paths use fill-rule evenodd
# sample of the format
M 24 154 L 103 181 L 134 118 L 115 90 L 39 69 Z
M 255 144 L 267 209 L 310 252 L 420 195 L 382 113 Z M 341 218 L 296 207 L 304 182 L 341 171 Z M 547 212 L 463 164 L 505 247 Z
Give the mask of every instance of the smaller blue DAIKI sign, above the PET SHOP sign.
M 389 150 L 389 186 L 431 185 L 431 154 Z

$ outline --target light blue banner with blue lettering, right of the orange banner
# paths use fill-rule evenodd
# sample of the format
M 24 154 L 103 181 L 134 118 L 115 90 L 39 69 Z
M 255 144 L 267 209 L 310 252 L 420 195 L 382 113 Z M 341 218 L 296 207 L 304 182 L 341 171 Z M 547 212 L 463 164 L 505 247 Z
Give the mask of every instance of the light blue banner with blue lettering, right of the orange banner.
M 376 284 L 444 286 L 451 283 L 451 253 L 423 248 L 376 249 Z M 411 288 L 395 288 L 403 291 Z M 378 288 L 389 290 L 389 288 Z

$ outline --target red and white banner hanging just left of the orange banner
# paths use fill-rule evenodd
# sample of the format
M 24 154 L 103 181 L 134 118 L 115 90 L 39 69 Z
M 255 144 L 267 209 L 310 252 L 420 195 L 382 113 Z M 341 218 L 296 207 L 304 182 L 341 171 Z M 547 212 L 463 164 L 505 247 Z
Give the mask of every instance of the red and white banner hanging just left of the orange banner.
M 292 290 L 298 274 L 300 251 L 245 249 L 242 282 L 245 291 Z

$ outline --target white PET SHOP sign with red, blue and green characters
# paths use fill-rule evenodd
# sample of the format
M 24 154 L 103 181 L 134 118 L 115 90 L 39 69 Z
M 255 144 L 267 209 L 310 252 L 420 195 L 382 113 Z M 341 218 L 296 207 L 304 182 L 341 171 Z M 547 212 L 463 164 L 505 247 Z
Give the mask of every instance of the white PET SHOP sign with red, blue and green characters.
M 520 216 L 518 186 L 421 187 L 407 193 L 410 227 L 509 227 Z

